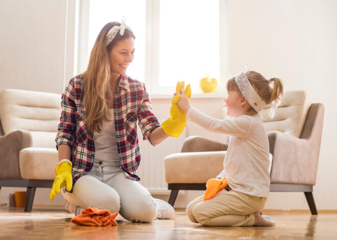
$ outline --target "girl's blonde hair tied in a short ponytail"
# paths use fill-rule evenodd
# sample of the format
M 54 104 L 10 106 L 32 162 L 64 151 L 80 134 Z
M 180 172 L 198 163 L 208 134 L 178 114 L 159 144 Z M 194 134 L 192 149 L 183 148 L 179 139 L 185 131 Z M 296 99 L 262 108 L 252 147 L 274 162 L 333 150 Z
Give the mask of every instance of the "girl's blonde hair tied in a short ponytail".
M 261 99 L 267 104 L 271 104 L 275 101 L 275 107 L 277 107 L 279 102 L 282 100 L 281 98 L 283 95 L 283 84 L 281 79 L 273 77 L 268 81 L 264 76 L 255 71 L 248 71 L 246 75 L 249 83 L 253 86 L 254 90 Z M 272 83 L 270 84 L 269 82 Z M 236 85 L 234 77 L 228 79 L 226 89 L 227 91 L 239 92 L 242 95 Z M 257 114 L 257 112 L 253 108 L 250 108 L 246 114 L 252 116 Z

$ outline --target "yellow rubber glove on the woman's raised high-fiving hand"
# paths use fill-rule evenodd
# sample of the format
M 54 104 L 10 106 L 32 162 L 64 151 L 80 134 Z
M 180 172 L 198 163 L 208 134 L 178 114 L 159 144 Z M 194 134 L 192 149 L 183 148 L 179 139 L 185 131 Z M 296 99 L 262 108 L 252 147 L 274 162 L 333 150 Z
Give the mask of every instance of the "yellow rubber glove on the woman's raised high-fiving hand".
M 178 82 L 176 92 L 180 93 L 181 89 L 184 89 L 184 87 L 184 81 Z M 188 98 L 191 97 L 191 89 L 189 84 L 184 89 L 184 92 Z M 186 114 L 177 105 L 179 99 L 180 94 L 177 94 L 173 97 L 172 106 L 170 109 L 171 117 L 161 124 L 161 127 L 163 128 L 165 134 L 171 137 L 179 137 L 186 125 Z

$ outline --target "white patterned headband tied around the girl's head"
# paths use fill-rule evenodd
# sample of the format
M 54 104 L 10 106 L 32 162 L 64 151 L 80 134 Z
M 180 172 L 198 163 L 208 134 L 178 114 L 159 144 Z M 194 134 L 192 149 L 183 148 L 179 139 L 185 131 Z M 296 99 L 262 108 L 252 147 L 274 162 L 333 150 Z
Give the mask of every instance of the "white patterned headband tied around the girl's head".
M 260 112 L 260 110 L 263 109 L 267 103 L 261 99 L 261 97 L 257 94 L 253 86 L 248 81 L 247 75 L 245 73 L 247 68 L 248 64 L 245 65 L 245 68 L 242 72 L 234 76 L 235 83 L 252 108 L 256 112 Z

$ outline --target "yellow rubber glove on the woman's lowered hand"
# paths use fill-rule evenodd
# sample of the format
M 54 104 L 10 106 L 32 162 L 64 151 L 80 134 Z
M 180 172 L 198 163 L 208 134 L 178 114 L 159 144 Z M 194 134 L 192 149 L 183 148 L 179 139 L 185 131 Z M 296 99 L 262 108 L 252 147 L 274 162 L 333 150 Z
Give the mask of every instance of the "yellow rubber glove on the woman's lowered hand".
M 69 162 L 59 163 L 55 168 L 56 177 L 53 182 L 50 199 L 53 201 L 56 194 L 61 192 L 63 186 L 67 185 L 67 191 L 71 191 L 73 186 L 73 177 L 71 176 L 71 164 Z

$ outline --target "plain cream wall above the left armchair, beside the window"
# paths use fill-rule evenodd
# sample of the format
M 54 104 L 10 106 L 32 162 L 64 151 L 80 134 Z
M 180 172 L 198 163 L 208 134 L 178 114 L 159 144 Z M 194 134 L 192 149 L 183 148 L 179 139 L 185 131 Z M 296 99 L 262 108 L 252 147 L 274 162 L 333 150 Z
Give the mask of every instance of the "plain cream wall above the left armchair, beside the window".
M 0 0 L 0 91 L 62 93 L 74 71 L 74 13 L 72 0 Z

